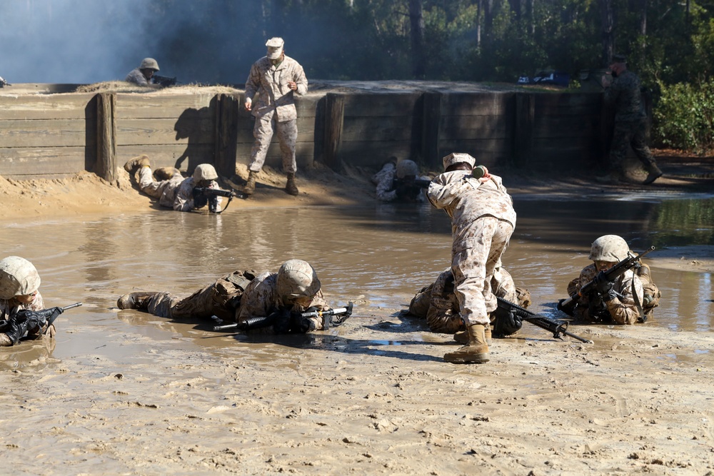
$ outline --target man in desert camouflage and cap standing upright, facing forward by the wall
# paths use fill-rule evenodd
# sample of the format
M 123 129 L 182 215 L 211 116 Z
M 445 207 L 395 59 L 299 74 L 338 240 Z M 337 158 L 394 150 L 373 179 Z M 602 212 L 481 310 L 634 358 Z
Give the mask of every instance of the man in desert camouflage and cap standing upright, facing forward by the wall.
M 266 43 L 268 54 L 256 61 L 246 81 L 246 111 L 256 117 L 253 136 L 256 138 L 248 166 L 248 183 L 243 193 L 251 195 L 256 190 L 256 175 L 266 160 L 273 132 L 278 133 L 280 151 L 283 155 L 283 171 L 288 176 L 285 191 L 298 194 L 295 184 L 295 142 L 298 138 L 298 113 L 294 93 L 299 96 L 308 92 L 308 80 L 303 67 L 285 56 L 282 38 L 271 38 Z M 258 103 L 253 106 L 253 96 L 258 93 Z

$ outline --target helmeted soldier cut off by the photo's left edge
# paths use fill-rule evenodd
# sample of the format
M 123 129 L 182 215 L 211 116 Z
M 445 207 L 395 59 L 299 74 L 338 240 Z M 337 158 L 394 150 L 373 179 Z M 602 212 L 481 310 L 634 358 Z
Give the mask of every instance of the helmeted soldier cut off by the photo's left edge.
M 32 320 L 21 320 L 19 310 L 43 310 L 44 300 L 39 292 L 40 275 L 25 258 L 8 256 L 0 260 L 0 346 L 15 345 L 25 335 L 39 339 L 47 333 L 54 338 L 54 324 L 47 328 Z

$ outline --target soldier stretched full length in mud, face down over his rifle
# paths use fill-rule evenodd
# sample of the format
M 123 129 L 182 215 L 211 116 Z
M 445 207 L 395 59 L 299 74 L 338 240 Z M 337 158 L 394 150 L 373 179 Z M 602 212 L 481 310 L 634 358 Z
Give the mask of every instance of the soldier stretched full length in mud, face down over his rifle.
M 322 330 L 321 318 L 305 318 L 301 312 L 329 309 L 317 273 L 303 260 L 288 260 L 277 273 L 234 271 L 187 298 L 166 291 L 139 292 L 122 295 L 116 305 L 176 320 L 215 315 L 223 321 L 244 323 L 270 316 L 273 324 L 263 329 L 276 334 Z

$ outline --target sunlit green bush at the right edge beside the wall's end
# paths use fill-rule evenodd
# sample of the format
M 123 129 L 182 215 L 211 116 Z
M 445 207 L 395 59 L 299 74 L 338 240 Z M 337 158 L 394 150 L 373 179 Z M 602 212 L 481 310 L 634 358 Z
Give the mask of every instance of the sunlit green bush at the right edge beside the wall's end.
M 700 84 L 660 83 L 653 139 L 661 146 L 704 154 L 714 148 L 714 80 Z

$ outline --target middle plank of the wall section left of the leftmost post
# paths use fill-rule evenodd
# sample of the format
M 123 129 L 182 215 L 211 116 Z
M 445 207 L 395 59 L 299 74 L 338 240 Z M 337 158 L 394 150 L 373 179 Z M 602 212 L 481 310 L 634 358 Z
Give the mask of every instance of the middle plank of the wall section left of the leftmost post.
M 1 121 L 0 145 L 4 147 L 84 146 L 86 126 L 84 118 Z

